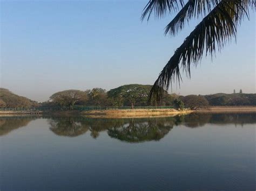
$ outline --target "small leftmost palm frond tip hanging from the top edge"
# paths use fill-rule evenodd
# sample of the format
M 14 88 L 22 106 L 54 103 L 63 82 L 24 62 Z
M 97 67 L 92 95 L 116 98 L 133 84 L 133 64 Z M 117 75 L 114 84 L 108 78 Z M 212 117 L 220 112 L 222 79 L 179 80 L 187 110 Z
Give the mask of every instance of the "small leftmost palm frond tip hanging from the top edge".
M 177 11 L 179 6 L 183 5 L 183 0 L 150 0 L 143 9 L 142 20 L 147 15 L 147 20 L 149 20 L 152 12 L 154 12 L 155 17 L 163 17 L 167 12 Z

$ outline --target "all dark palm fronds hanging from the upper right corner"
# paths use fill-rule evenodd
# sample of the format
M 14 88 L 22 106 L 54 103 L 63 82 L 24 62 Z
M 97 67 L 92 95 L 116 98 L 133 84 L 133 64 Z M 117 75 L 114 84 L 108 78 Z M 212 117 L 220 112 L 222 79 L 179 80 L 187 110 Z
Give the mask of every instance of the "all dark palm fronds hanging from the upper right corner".
M 249 10 L 255 9 L 254 0 L 150 0 L 145 6 L 142 19 L 164 17 L 177 12 L 165 28 L 165 34 L 175 36 L 183 30 L 185 23 L 203 17 L 201 22 L 176 49 L 160 72 L 150 91 L 150 100 L 160 102 L 163 89 L 168 89 L 174 80 L 180 82 L 181 71 L 190 77 L 191 65 L 197 66 L 203 55 L 215 55 L 224 45 L 237 36 L 237 27 Z M 249 17 L 248 17 L 249 18 Z

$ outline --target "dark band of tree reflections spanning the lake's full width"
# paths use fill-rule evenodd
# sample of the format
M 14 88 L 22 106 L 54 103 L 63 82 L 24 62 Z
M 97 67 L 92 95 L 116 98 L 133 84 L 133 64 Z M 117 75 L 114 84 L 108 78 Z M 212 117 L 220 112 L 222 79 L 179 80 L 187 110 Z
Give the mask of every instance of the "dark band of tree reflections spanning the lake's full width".
M 7 135 L 12 130 L 27 126 L 38 117 L 0 117 L 0 136 Z M 254 124 L 256 113 L 246 114 L 199 114 L 179 115 L 159 118 L 128 118 L 103 119 L 79 117 L 42 117 L 48 119 L 50 130 L 58 136 L 77 137 L 86 132 L 92 138 L 97 138 L 100 132 L 125 142 L 138 143 L 150 140 L 160 140 L 174 125 L 184 125 L 187 128 L 198 128 L 211 124 Z

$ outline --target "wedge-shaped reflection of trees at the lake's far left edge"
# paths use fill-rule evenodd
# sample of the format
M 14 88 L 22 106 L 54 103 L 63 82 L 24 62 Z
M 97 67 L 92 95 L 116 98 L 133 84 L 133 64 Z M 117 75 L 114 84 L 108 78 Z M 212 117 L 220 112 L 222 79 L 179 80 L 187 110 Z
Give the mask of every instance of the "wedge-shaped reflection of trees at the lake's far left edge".
M 0 117 L 0 136 L 7 135 L 11 131 L 22 128 L 37 117 Z

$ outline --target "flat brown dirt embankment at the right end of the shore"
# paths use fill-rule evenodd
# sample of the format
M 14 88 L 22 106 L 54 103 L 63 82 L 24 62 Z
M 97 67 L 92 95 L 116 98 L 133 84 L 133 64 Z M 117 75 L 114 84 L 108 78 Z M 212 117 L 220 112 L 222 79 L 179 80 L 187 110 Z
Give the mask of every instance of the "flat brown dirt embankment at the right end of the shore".
M 196 112 L 210 112 L 210 113 L 223 113 L 223 112 L 256 112 L 255 106 L 216 106 L 205 109 L 196 110 Z

